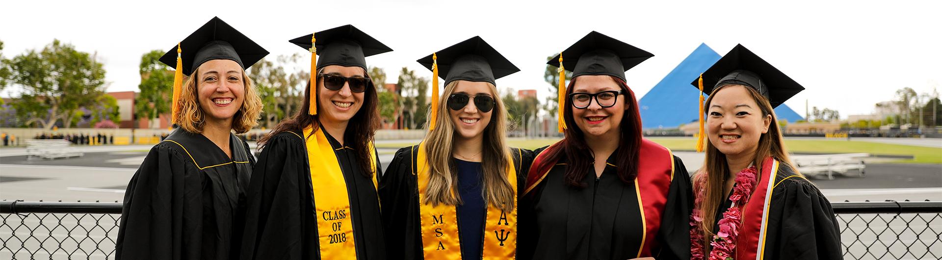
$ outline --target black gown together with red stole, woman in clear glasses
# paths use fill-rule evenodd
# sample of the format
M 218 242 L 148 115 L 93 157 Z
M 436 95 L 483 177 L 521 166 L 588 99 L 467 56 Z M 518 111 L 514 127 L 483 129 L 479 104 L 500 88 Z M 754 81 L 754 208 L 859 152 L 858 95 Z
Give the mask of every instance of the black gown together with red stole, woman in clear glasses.
M 542 159 L 539 153 L 544 149 L 535 151 L 536 160 Z M 615 154 L 598 178 L 593 169 L 585 170 L 591 172 L 583 179 L 583 188 L 565 183 L 565 158 L 544 173 L 529 172 L 528 190 L 520 203 L 521 255 L 690 259 L 693 195 L 683 162 L 643 139 L 638 177 L 626 185 L 617 175 Z

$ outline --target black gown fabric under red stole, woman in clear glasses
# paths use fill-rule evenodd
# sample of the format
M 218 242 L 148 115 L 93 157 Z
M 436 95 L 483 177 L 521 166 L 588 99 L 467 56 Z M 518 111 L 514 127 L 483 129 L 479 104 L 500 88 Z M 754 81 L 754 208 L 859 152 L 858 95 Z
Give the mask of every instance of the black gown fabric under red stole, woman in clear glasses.
M 544 148 L 537 149 L 536 154 Z M 584 188 L 565 183 L 560 159 L 520 202 L 518 255 L 523 259 L 631 259 L 638 257 L 645 228 L 634 185 L 618 177 L 615 154 L 599 178 L 593 169 Z M 690 259 L 690 175 L 674 156 L 674 179 L 660 219 L 656 259 Z

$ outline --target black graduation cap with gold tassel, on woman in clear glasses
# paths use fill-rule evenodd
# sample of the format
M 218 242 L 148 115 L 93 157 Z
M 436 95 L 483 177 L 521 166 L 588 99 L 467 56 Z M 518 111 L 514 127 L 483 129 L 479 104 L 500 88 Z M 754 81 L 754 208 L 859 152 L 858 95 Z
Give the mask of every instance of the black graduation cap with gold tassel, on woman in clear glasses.
M 563 60 L 562 57 L 570 57 L 570 59 Z M 577 58 L 572 59 L 572 57 Z M 625 80 L 625 71 L 634 68 L 649 57 L 654 57 L 654 55 L 625 41 L 618 41 L 592 31 L 566 48 L 560 55 L 549 59 L 546 64 L 560 68 L 558 70 L 560 91 L 559 102 L 557 102 L 560 105 L 558 115 L 560 133 L 566 128 L 566 122 L 562 119 L 562 108 L 566 100 L 565 71 L 573 72 L 574 78 L 580 75 L 610 75 Z

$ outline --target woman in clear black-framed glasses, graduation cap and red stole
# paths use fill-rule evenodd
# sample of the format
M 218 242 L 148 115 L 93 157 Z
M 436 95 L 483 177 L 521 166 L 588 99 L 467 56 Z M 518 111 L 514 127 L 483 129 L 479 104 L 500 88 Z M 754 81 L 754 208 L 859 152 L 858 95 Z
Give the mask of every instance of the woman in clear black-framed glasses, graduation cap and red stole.
M 690 176 L 670 150 L 642 138 L 625 84 L 625 71 L 648 57 L 592 32 L 549 61 L 573 72 L 560 88 L 565 138 L 535 151 L 520 202 L 521 256 L 690 259 Z

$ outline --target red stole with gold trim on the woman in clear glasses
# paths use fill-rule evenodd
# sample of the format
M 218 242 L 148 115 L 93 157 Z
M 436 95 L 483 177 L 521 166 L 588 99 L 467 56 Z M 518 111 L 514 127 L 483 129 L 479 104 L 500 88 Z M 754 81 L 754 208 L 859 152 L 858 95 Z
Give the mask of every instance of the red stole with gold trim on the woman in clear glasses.
M 546 148 L 561 149 L 562 141 Z M 546 151 L 544 150 L 544 152 Z M 635 191 L 638 195 L 638 207 L 642 208 L 642 246 L 638 249 L 638 257 L 651 256 L 652 248 L 656 245 L 654 236 L 660 229 L 660 217 L 667 203 L 667 191 L 674 180 L 674 154 L 671 150 L 659 144 L 642 138 L 642 146 L 638 158 L 638 177 L 635 178 Z M 555 161 L 545 156 L 548 153 L 537 154 L 533 159 L 533 168 L 527 174 L 527 195 L 537 187 L 546 174 L 556 165 Z

